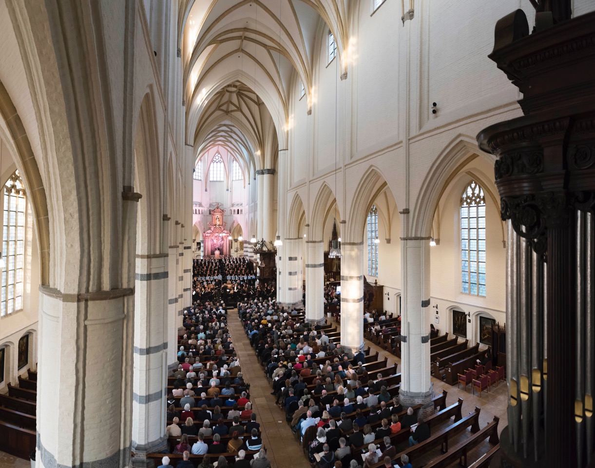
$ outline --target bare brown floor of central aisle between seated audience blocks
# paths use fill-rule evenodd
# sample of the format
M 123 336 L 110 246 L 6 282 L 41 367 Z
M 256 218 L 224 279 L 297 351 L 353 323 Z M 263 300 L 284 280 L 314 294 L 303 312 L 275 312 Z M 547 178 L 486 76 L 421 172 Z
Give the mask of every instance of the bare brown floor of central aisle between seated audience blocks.
M 256 413 L 256 422 L 261 425 L 262 443 L 267 448 L 267 458 L 271 460 L 271 466 L 310 468 L 302 447 L 297 444 L 296 436 L 285 422 L 284 412 L 275 405 L 275 398 L 270 395 L 271 385 L 262 372 L 262 366 L 256 360 L 236 309 L 227 311 L 227 326 L 233 336 L 233 345 L 242 366 L 244 379 L 250 384 L 252 410 Z

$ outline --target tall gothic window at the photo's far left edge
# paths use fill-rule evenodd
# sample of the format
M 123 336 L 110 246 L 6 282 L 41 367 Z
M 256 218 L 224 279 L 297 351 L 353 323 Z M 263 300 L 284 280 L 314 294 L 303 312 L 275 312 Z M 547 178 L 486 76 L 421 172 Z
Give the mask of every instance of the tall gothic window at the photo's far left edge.
M 6 267 L 2 270 L 0 316 L 23 308 L 23 264 L 25 254 L 25 215 L 27 204 L 23 180 L 18 170 L 4 185 L 4 224 L 2 255 Z

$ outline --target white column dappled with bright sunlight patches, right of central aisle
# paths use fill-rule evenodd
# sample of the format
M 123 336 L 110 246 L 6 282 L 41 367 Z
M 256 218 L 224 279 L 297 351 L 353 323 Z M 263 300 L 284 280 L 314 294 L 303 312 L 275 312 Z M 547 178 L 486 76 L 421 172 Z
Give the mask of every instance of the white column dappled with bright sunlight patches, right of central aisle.
M 364 348 L 364 243 L 341 244 L 341 346 Z

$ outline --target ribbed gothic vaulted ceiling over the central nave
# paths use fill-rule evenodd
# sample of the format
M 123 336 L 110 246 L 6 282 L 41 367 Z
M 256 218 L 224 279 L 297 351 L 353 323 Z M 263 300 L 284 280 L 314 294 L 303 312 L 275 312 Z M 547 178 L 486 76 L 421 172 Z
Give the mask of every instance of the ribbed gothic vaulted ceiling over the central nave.
M 358 0 L 186 0 L 179 11 L 186 143 L 198 157 L 224 145 L 250 170 L 287 146 L 289 95 L 311 108 L 315 51 L 333 32 L 346 72 L 347 14 Z

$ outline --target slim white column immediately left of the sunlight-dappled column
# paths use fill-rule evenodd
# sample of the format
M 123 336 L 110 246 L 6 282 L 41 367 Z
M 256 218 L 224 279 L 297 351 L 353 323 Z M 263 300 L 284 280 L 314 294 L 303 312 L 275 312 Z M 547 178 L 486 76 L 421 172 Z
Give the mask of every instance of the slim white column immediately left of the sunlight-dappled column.
M 324 241 L 306 241 L 306 320 L 324 320 Z

